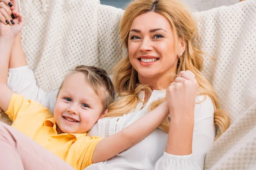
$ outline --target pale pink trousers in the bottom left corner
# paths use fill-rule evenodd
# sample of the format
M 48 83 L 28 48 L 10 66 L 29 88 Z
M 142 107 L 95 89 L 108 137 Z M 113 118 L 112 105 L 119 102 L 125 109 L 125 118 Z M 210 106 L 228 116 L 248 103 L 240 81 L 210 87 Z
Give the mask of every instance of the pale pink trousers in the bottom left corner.
M 74 170 L 28 136 L 0 122 L 0 166 L 3 170 Z

